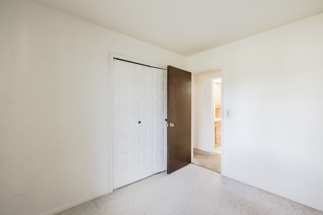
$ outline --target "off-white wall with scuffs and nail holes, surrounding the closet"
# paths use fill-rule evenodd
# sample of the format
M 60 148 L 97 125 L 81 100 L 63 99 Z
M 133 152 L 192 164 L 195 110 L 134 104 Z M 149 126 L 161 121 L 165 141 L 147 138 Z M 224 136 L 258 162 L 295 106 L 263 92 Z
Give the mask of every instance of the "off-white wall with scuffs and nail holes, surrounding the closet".
M 0 214 L 107 193 L 109 53 L 183 69 L 186 57 L 25 1 L 0 2 L 0 31 Z

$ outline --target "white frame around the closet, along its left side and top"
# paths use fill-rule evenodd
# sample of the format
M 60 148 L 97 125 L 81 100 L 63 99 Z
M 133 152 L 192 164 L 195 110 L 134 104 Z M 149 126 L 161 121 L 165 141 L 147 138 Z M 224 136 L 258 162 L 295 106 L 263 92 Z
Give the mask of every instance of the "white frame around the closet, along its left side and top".
M 120 54 L 116 54 L 113 52 L 110 52 L 110 56 L 109 56 L 109 98 L 108 98 L 108 112 L 109 112 L 109 116 L 107 118 L 108 120 L 108 130 L 107 130 L 107 134 L 110 138 L 108 138 L 107 144 L 108 144 L 108 152 L 107 152 L 107 156 L 108 156 L 108 167 L 109 167 L 109 193 L 113 192 L 113 133 L 114 133 L 114 58 L 120 58 L 123 60 L 127 60 L 127 61 L 131 61 L 134 63 L 139 63 L 139 64 L 144 64 L 144 65 L 148 65 L 148 66 L 152 66 L 152 67 L 158 67 L 158 68 L 163 68 L 167 70 L 167 66 L 164 65 L 159 65 L 159 64 L 155 64 L 155 63 L 150 63 L 144 60 L 139 60 L 136 58 L 132 58 L 132 57 L 127 57 L 124 55 L 120 55 Z

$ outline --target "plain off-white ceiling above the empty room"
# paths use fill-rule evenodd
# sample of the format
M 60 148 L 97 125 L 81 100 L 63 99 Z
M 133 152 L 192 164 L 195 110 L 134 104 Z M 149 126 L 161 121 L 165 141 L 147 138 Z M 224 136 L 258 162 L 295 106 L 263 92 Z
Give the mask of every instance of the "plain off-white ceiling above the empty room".
M 322 0 L 30 0 L 183 56 L 323 13 Z

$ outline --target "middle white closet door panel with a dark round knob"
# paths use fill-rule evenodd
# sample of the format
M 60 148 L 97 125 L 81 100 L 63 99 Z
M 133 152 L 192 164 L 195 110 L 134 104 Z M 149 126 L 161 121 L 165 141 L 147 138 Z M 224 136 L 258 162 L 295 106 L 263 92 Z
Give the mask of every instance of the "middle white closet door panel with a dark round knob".
M 152 175 L 152 68 L 135 64 L 135 181 Z M 140 123 L 139 123 L 140 122 Z

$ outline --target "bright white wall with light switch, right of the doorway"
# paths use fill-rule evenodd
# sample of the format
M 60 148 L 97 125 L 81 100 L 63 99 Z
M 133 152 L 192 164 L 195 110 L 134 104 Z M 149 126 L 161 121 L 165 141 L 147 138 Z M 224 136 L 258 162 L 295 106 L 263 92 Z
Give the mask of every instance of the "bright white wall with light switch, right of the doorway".
M 189 70 L 224 63 L 222 174 L 319 210 L 322 38 L 320 14 L 188 57 Z

